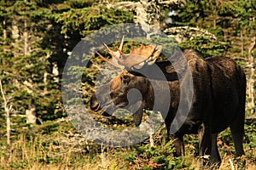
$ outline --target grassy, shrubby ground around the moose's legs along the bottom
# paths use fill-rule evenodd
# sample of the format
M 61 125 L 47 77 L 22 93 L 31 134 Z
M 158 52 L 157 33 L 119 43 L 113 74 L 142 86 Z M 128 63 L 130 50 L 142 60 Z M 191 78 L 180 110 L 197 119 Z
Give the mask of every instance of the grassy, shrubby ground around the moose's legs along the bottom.
M 230 129 L 219 134 L 218 149 L 223 160 L 220 169 L 231 169 L 231 164 L 237 169 L 242 160 L 246 161 L 246 169 L 256 169 L 255 120 L 247 120 L 245 127 L 246 156 L 238 160 L 230 142 Z M 1 139 L 0 169 L 199 169 L 195 135 L 185 136 L 186 156 L 177 158 L 172 156 L 171 142 L 166 141 L 163 126 L 153 139 L 153 147 L 146 139 L 141 144 L 111 148 L 86 141 L 67 118 L 44 122 L 23 128 L 13 136 L 10 149 Z

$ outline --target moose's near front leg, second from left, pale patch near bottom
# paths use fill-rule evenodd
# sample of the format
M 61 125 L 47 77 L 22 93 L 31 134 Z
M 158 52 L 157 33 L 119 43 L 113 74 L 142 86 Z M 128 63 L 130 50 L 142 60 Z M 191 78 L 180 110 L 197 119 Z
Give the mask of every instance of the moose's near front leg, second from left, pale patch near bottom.
M 211 129 L 205 123 L 202 123 L 198 130 L 199 138 L 199 156 L 201 156 L 200 167 L 208 166 L 212 150 Z

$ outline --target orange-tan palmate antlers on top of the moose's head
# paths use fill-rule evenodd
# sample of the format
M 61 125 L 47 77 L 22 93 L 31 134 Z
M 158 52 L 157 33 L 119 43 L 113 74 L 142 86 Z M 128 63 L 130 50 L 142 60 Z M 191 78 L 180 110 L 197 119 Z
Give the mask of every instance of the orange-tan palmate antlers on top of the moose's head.
M 124 67 L 127 69 L 131 69 L 132 67 L 140 69 L 145 64 L 154 64 L 155 60 L 158 59 L 160 56 L 161 48 L 156 48 L 156 45 L 145 46 L 143 43 L 140 48 L 134 48 L 133 45 L 131 45 L 130 54 L 124 54 L 122 52 L 124 40 L 125 37 L 122 38 L 122 41 L 117 51 L 111 50 L 110 48 L 108 48 L 108 45 L 104 43 L 104 46 L 108 49 L 108 53 L 111 54 L 111 56 L 113 57 L 112 61 L 104 58 L 101 54 L 97 52 L 96 54 L 98 54 L 103 60 L 105 60 L 109 64 L 115 67 L 119 67 L 120 69 L 123 69 Z

